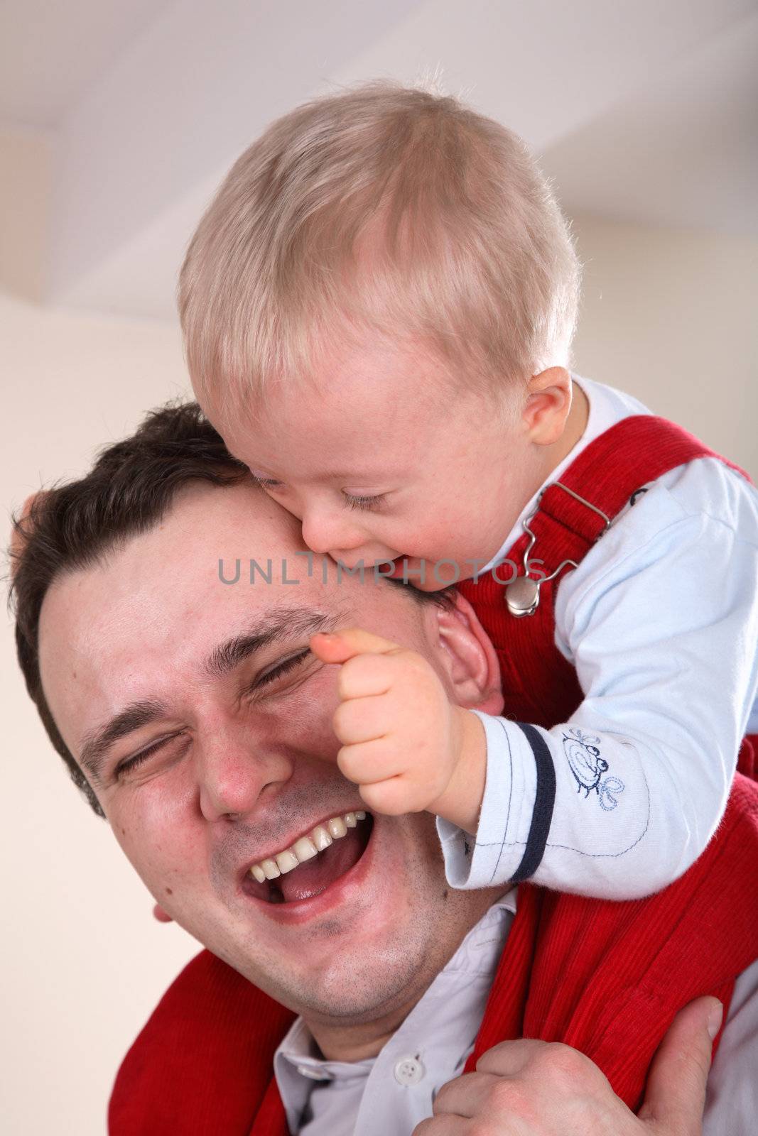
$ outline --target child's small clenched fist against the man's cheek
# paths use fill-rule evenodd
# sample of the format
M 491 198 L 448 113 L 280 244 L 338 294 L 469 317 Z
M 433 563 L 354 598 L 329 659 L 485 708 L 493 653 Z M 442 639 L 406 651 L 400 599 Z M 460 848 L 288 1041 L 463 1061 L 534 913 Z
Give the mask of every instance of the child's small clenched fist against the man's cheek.
M 360 627 L 314 635 L 310 649 L 323 662 L 340 665 L 338 763 L 368 808 L 389 816 L 426 809 L 475 827 L 484 729 L 475 715 L 450 702 L 431 663 Z

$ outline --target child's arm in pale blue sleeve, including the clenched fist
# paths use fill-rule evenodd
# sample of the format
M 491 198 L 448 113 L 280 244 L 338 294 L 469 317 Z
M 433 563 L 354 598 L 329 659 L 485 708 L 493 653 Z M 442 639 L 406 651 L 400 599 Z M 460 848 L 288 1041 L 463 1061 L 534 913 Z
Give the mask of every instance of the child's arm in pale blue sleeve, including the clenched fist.
M 348 679 L 335 721 L 369 808 L 436 812 L 458 887 L 533 878 L 631 899 L 686 870 L 723 812 L 758 685 L 758 508 L 755 495 L 742 504 L 752 515 L 726 524 L 725 507 L 717 520 L 688 512 L 656 484 L 558 593 L 559 643 L 585 701 L 552 730 L 478 716 L 486 755 L 470 711 L 417 685 L 419 655 L 353 642 L 348 655 L 386 657 L 353 669 L 373 685 Z M 383 716 L 369 721 L 373 695 Z

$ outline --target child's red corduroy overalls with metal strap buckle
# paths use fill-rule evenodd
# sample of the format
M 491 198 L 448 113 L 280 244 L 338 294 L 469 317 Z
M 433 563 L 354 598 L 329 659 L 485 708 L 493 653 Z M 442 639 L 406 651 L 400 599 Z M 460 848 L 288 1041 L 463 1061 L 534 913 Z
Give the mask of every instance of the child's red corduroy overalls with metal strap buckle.
M 708 452 L 660 419 L 630 418 L 588 446 L 561 482 L 614 516 L 643 483 Z M 560 490 L 542 499 L 533 527 L 545 566 L 578 560 L 598 535 L 590 510 L 574 504 Z M 510 558 L 518 561 L 524 546 L 518 542 Z M 518 620 L 505 610 L 497 582 L 461 590 L 498 648 L 506 713 L 544 726 L 565 721 L 582 692 L 555 648 L 551 585 L 543 585 L 538 612 Z M 752 760 L 745 743 L 745 771 Z M 560 1041 L 595 1061 L 635 1108 L 676 1011 L 706 993 L 728 1004 L 735 977 L 758 958 L 757 860 L 758 785 L 738 775 L 703 855 L 657 895 L 609 903 L 520 886 L 467 1069 L 500 1041 Z M 293 1017 L 203 951 L 172 985 L 124 1060 L 109 1131 L 286 1136 L 273 1054 Z

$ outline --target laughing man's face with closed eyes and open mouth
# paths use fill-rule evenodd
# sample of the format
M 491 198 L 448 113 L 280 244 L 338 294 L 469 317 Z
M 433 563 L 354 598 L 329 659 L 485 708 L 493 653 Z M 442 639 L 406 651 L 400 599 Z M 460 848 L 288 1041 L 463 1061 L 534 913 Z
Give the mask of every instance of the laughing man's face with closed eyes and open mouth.
M 422 651 L 455 694 L 436 605 L 333 571 L 325 585 L 302 549 L 297 519 L 250 484 L 183 491 L 153 529 L 51 587 L 42 682 L 161 907 L 310 1021 L 370 1020 L 425 988 L 492 895 L 448 891 L 428 813 L 369 816 L 273 888 L 251 879 L 361 808 L 335 763 L 338 668 L 308 652 L 315 630 L 360 623 Z M 238 557 L 225 585 L 219 558 L 228 574 Z M 248 583 L 250 558 L 270 558 L 270 585 Z

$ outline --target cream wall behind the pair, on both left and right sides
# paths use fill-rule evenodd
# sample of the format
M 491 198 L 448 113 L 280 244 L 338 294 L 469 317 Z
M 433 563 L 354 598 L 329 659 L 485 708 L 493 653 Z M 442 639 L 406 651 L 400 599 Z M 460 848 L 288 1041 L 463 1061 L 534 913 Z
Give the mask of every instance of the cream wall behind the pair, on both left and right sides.
M 34 145 L 14 153 L 14 200 L 0 178 L 0 248 L 31 260 L 40 199 L 28 241 L 11 240 L 6 227 L 2 244 L 2 226 L 23 212 L 22 165 L 31 176 L 44 154 Z M 756 248 L 592 218 L 581 218 L 577 233 L 588 262 L 577 368 L 627 386 L 758 474 Z M 7 256 L 3 279 L 31 294 L 38 276 L 33 264 Z M 128 432 L 143 410 L 186 392 L 174 325 L 0 294 L 5 515 L 41 482 L 82 473 L 94 449 Z M 197 945 L 151 919 L 147 891 L 67 780 L 23 690 L 6 619 L 0 712 L 2 1129 L 101 1136 L 118 1061 Z

